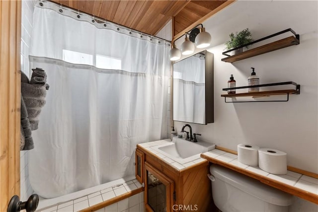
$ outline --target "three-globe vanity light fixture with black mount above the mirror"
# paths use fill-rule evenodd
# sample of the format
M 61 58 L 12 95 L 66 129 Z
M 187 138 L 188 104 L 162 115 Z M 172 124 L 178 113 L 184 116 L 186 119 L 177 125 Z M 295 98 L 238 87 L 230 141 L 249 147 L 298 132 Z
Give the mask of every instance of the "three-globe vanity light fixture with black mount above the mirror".
M 197 28 L 197 26 L 200 26 L 201 28 Z M 210 46 L 211 43 L 211 35 L 210 33 L 205 31 L 205 28 L 200 23 L 194 28 L 192 28 L 190 31 L 186 32 L 184 42 L 181 44 L 181 51 L 176 48 L 176 45 L 174 44 L 176 40 L 178 40 L 181 37 L 178 37 L 177 39 L 172 41 L 172 48 L 169 52 L 169 58 L 170 61 L 177 61 L 181 58 L 182 55 L 191 55 L 195 47 L 201 49 Z M 189 37 L 187 37 L 189 35 Z M 195 43 L 195 46 L 194 44 Z

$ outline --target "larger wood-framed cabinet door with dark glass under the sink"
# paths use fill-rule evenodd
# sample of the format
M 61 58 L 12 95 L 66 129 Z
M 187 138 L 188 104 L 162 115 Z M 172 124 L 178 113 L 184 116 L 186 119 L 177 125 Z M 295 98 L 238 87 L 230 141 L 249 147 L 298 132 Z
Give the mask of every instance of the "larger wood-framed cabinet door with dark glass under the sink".
M 145 208 L 147 212 L 172 212 L 174 182 L 145 162 Z

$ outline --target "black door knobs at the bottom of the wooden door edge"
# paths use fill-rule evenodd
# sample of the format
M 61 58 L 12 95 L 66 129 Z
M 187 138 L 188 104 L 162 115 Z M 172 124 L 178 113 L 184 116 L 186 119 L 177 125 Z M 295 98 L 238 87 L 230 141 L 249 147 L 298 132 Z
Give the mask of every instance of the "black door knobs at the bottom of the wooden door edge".
M 26 202 L 21 202 L 19 196 L 14 195 L 8 205 L 7 212 L 19 212 L 26 210 L 26 212 L 35 212 L 39 205 L 39 196 L 32 194 Z

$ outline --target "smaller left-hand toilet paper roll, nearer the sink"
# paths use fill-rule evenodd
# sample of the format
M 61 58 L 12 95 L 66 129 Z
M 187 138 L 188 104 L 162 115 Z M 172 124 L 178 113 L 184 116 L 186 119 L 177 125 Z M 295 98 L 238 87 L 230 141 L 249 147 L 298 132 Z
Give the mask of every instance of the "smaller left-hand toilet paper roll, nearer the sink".
M 238 145 L 238 158 L 239 162 L 249 166 L 258 165 L 258 146 L 241 143 Z

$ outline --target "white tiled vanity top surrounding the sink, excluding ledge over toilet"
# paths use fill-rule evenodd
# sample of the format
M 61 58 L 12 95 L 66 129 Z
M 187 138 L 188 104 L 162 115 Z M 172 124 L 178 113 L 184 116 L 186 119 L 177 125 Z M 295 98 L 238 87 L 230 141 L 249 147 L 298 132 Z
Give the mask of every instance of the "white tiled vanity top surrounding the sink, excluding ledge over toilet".
M 189 166 L 195 165 L 197 163 L 201 163 L 202 161 L 207 161 L 206 159 L 203 159 L 200 157 L 200 154 L 197 155 L 192 161 L 186 162 L 186 163 L 178 163 L 174 161 L 173 159 L 159 153 L 155 150 L 155 146 L 163 145 L 163 144 L 169 144 L 171 143 L 170 139 L 160 140 L 160 141 L 152 141 L 152 142 L 146 142 L 146 143 L 139 143 L 137 145 L 143 147 L 143 149 L 146 149 L 150 151 L 151 153 L 155 154 L 158 158 L 164 160 L 166 163 L 170 164 L 173 168 L 176 170 L 183 170 Z

